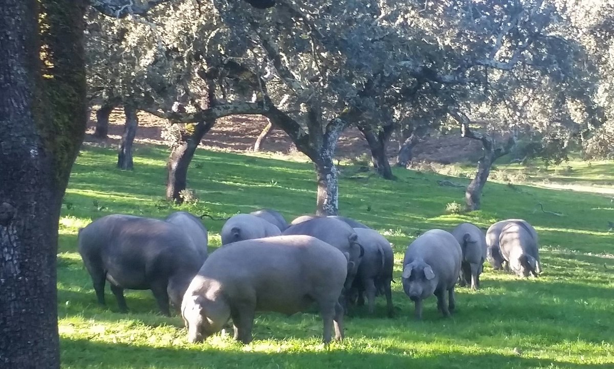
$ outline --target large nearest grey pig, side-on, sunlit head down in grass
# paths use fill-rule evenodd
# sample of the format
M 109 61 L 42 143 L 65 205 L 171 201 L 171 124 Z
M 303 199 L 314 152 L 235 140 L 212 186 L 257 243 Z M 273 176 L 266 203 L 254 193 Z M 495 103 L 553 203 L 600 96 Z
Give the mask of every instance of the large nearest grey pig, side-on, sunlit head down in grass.
M 218 332 L 231 317 L 235 340 L 249 343 L 255 311 L 294 314 L 317 303 L 324 342 L 343 338 L 338 302 L 348 260 L 311 236 L 250 239 L 221 247 L 204 262 L 184 296 L 181 313 L 188 341 Z

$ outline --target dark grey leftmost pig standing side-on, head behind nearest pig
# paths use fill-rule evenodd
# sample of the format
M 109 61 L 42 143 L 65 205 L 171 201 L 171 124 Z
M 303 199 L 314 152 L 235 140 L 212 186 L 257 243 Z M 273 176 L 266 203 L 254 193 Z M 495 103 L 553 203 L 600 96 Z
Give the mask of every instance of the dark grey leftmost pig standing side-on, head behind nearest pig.
M 203 265 L 204 258 L 184 231 L 163 220 L 113 214 L 79 231 L 79 254 L 90 273 L 98 302 L 111 283 L 122 312 L 124 289 L 152 290 L 161 313 L 169 315 Z

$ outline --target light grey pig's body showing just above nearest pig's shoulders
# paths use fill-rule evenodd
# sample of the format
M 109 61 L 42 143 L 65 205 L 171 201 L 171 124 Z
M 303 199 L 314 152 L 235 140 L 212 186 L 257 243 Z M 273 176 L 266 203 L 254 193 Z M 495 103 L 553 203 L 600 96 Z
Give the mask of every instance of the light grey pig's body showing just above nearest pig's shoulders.
M 237 214 L 224 223 L 220 235 L 222 245 L 246 239 L 279 236 L 279 228 L 252 214 Z

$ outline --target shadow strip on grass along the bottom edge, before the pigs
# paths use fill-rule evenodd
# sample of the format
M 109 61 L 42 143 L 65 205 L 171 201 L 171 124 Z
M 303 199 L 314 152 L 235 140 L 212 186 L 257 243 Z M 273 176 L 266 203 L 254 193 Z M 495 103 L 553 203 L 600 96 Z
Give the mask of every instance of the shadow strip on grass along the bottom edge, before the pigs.
M 254 344 L 257 344 L 255 342 Z M 126 343 L 101 343 L 89 340 L 61 340 L 63 367 L 71 368 L 611 368 L 611 364 L 577 364 L 564 361 L 532 359 L 519 355 L 495 353 L 465 354 L 445 352 L 420 354 L 415 350 L 386 350 L 386 353 L 347 351 L 333 346 L 329 351 L 254 352 L 215 349 L 207 344 L 187 348 L 152 348 Z

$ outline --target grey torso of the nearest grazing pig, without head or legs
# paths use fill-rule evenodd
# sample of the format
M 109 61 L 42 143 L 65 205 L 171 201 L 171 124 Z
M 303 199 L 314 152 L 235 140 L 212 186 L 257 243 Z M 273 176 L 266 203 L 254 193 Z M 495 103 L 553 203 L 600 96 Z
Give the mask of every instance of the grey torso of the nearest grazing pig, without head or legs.
M 314 299 L 341 295 L 347 260 L 335 247 L 304 235 L 239 241 L 213 252 L 198 273 L 216 281 L 230 300 L 294 313 Z

